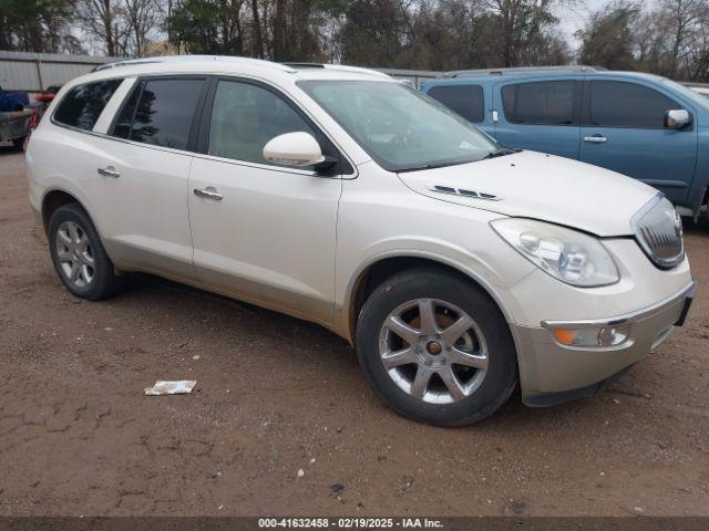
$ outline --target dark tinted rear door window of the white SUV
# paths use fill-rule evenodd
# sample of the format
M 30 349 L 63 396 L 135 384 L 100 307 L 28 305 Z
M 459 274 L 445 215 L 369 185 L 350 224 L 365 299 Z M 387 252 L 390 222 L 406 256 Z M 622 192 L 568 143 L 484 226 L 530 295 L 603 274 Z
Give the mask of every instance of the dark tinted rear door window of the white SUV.
M 137 87 L 140 95 L 132 95 L 123 107 L 114 135 L 155 146 L 186 149 L 204 84 L 204 80 L 143 82 Z

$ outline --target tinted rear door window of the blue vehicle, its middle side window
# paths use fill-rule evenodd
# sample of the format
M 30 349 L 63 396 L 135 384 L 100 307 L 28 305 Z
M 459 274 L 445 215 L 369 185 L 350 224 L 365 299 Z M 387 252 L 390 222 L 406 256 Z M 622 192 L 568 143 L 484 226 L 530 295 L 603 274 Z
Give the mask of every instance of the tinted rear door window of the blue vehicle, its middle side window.
M 517 124 L 573 124 L 575 88 L 575 81 L 506 85 L 502 88 L 505 116 Z

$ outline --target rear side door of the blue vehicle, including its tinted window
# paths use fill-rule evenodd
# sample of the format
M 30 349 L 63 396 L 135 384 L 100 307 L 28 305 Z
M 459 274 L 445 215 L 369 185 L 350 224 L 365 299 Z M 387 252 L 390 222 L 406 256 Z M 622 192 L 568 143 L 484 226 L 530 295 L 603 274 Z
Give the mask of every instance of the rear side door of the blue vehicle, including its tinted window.
M 510 147 L 578 158 L 578 102 L 575 80 L 495 85 L 494 137 Z

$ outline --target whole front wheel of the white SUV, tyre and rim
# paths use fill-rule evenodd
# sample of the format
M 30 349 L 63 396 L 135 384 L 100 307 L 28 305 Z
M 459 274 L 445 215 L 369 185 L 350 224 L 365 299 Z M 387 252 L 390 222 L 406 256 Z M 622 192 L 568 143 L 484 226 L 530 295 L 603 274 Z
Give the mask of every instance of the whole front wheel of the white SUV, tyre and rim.
M 435 269 L 404 271 L 377 288 L 356 341 L 377 393 L 421 423 L 482 420 L 517 383 L 514 342 L 497 305 L 466 279 Z

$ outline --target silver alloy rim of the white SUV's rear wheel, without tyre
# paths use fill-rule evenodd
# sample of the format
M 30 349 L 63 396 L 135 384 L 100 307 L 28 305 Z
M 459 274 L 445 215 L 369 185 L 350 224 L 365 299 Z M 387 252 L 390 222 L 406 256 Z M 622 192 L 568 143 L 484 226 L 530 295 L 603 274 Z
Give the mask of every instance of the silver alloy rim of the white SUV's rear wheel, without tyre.
M 56 229 L 54 244 L 64 277 L 76 288 L 86 288 L 95 274 L 93 251 L 86 231 L 73 221 L 64 221 Z

